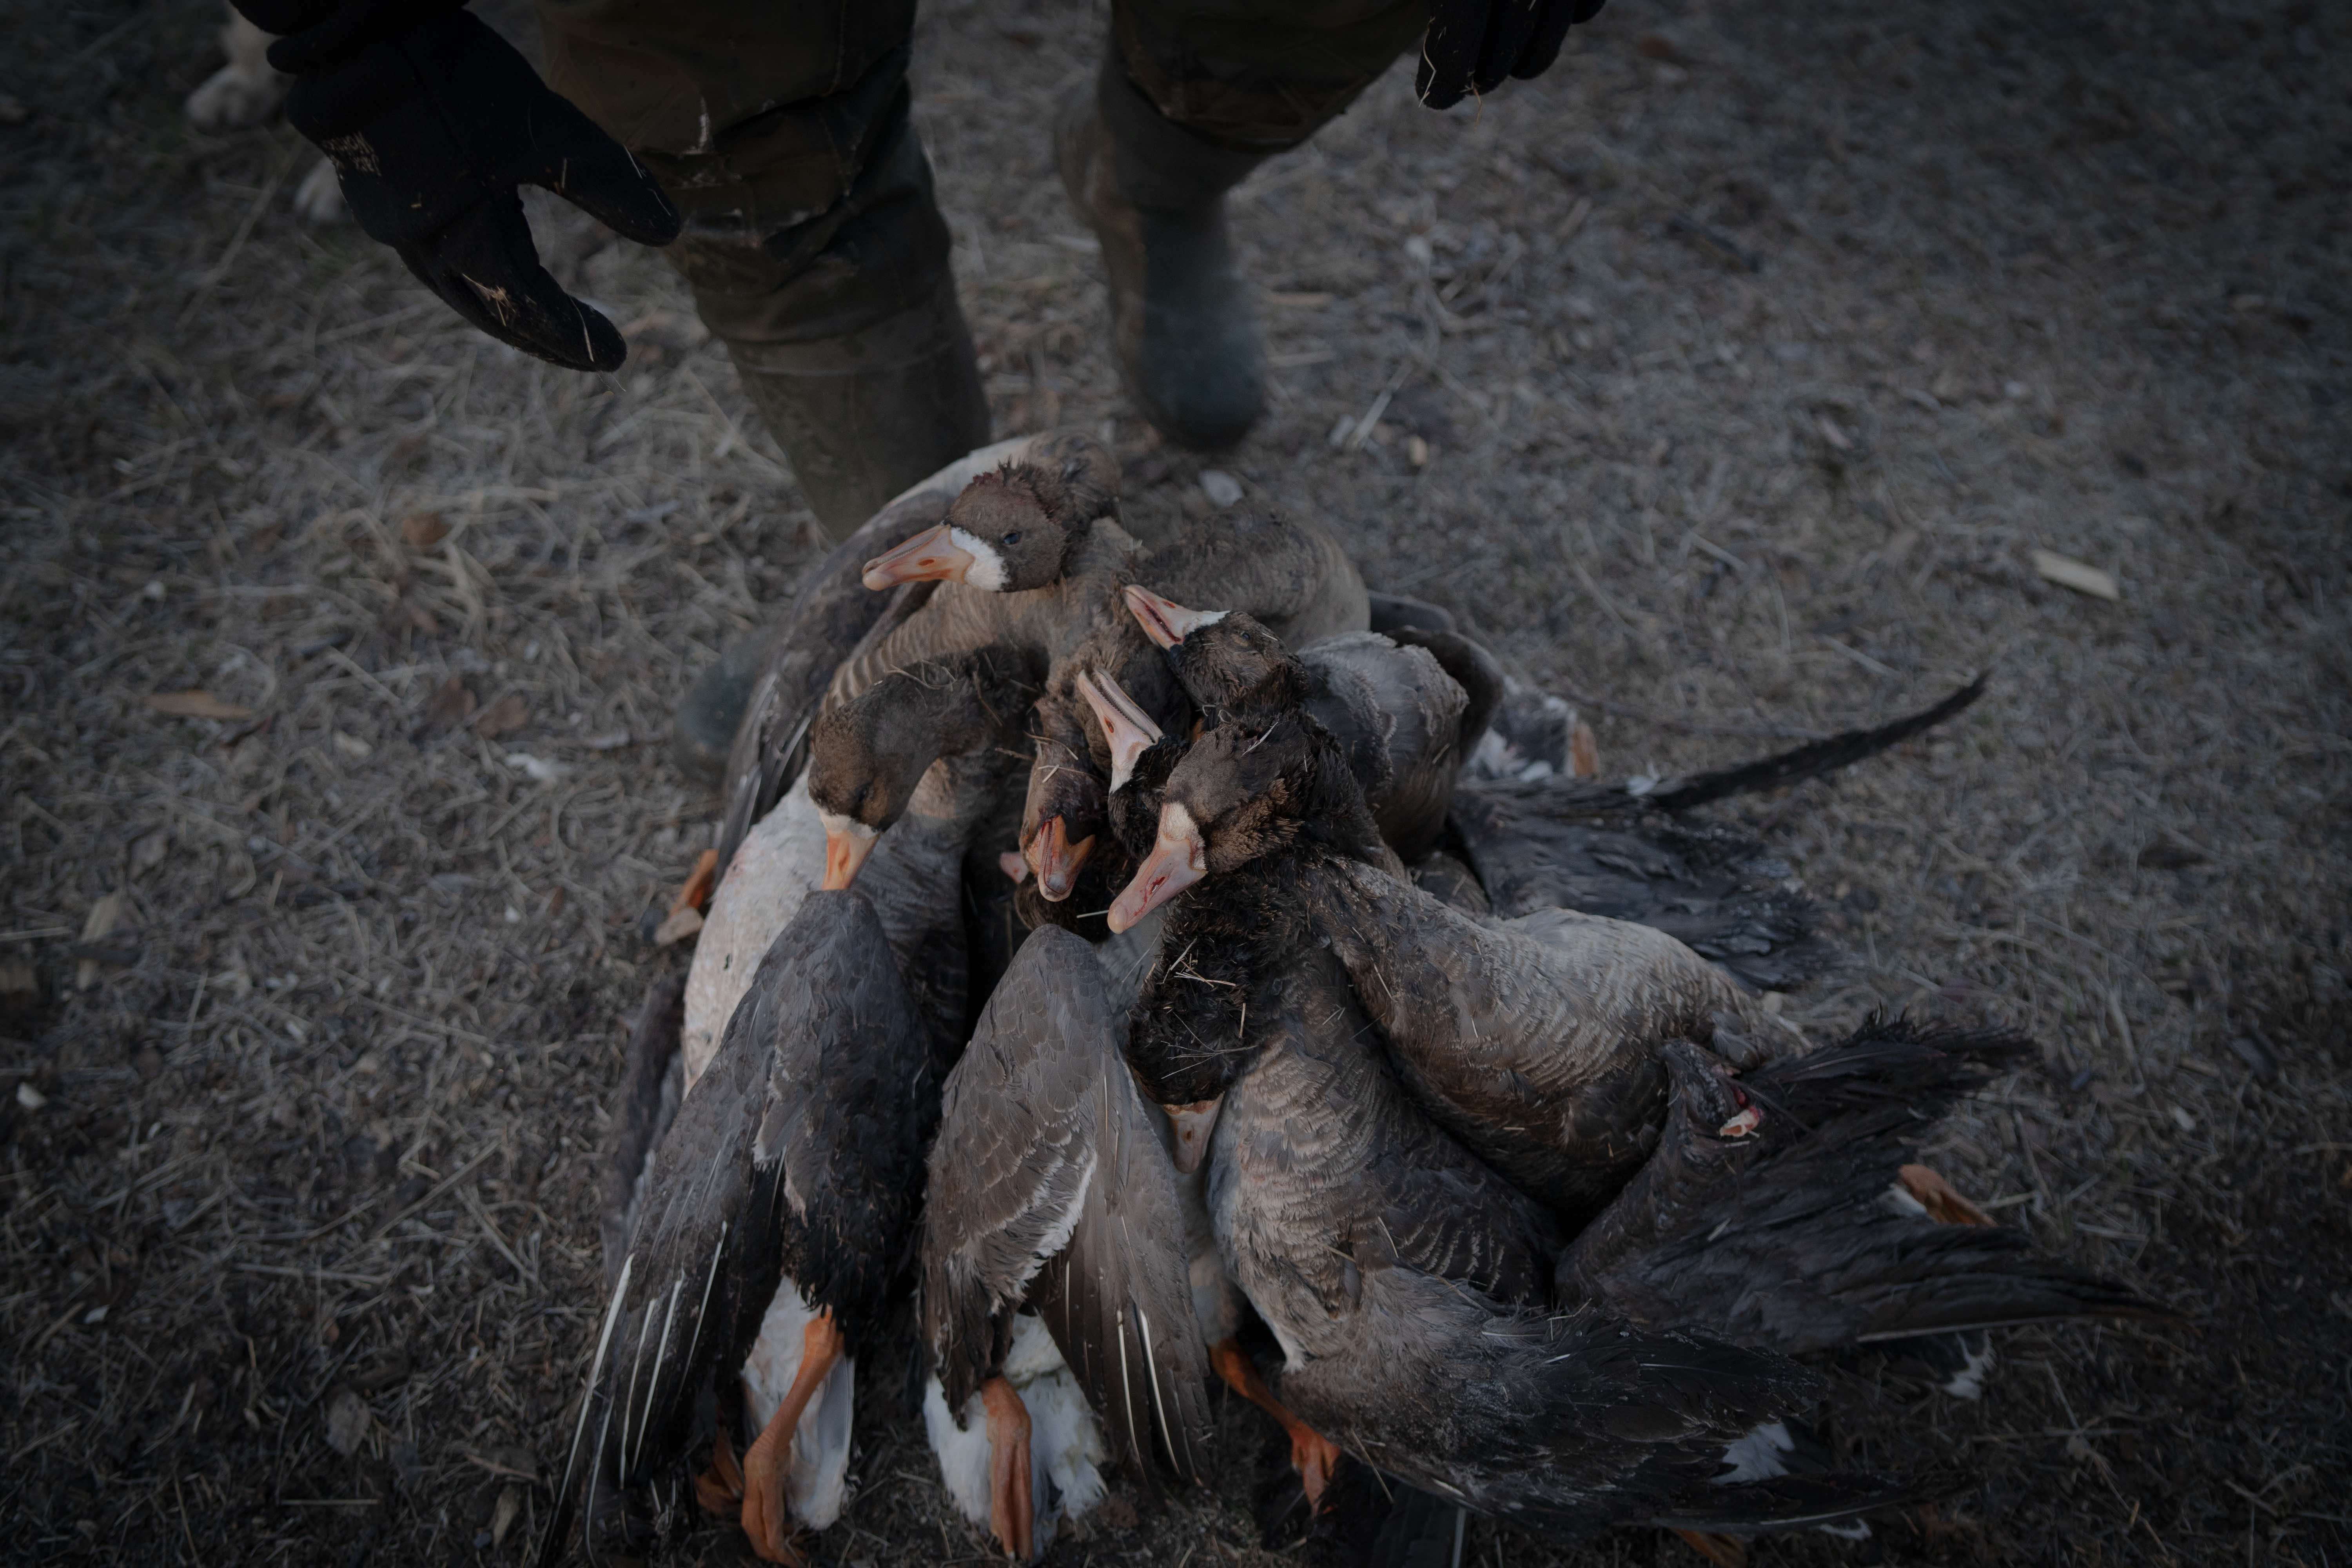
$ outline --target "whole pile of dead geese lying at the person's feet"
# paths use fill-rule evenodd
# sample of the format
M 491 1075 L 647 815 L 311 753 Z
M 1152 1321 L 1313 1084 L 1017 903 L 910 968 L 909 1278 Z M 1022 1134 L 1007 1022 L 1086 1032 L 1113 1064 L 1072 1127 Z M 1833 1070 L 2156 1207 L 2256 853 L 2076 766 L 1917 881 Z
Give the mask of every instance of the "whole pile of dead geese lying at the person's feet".
M 1907 1164 L 2030 1044 L 1806 1044 L 1759 992 L 1835 954 L 1693 809 L 1978 689 L 1604 788 L 1557 701 L 1312 522 L 1145 545 L 1075 435 L 943 470 L 767 651 L 630 1051 L 543 1547 L 708 1509 L 793 1561 L 910 1321 L 941 1481 L 1016 1559 L 1115 1469 L 1197 1481 L 1211 1378 L 1282 1422 L 1301 1516 L 1371 1497 L 1385 1552 L 1470 1509 L 1729 1561 L 1917 1500 L 1809 1434 L 1806 1359 L 1969 1394 L 1987 1328 L 2150 1307 Z

